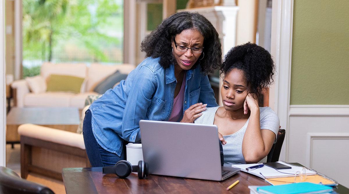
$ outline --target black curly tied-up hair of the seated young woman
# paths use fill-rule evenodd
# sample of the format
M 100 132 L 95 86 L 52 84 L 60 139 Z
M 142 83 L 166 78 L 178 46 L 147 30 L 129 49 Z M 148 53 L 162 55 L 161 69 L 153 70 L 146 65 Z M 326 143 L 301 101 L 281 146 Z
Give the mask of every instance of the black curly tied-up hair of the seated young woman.
M 272 56 L 254 43 L 248 42 L 229 50 L 221 66 L 221 76 L 227 75 L 233 69 L 244 72 L 250 93 L 257 94 L 258 98 L 263 89 L 274 82 L 275 65 Z

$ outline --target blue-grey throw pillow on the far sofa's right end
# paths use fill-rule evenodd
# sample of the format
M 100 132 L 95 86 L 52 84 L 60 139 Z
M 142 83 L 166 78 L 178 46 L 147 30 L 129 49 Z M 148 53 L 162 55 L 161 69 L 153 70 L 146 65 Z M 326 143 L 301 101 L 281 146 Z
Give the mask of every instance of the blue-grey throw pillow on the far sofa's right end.
M 127 74 L 122 74 L 118 71 L 101 81 L 94 89 L 98 94 L 104 94 L 108 89 L 111 89 L 117 82 L 127 78 Z

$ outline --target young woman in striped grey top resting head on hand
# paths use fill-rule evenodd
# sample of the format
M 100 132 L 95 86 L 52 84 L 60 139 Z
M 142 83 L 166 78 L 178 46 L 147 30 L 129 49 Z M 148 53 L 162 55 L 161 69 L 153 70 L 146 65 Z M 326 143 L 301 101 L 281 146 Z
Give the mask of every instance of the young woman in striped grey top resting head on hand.
M 217 125 L 224 163 L 266 162 L 280 121 L 271 108 L 258 106 L 258 98 L 273 82 L 274 70 L 270 53 L 253 43 L 236 46 L 225 56 L 223 107 L 207 108 L 194 121 Z

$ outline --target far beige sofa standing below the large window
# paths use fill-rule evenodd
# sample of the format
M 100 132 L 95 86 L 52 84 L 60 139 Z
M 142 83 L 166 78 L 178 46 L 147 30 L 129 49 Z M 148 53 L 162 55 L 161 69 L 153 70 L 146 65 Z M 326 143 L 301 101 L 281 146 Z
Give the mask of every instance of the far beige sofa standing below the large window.
M 95 86 L 106 77 L 119 70 L 120 73 L 128 74 L 135 68 L 131 64 L 102 65 L 91 64 L 53 64 L 44 63 L 40 70 L 40 76 L 45 80 L 51 74 L 68 75 L 84 78 L 81 92 L 41 92 L 30 91 L 26 80 L 16 80 L 11 84 L 13 88 L 14 104 L 17 107 L 76 107 L 82 109 L 88 95 L 97 94 L 93 91 Z

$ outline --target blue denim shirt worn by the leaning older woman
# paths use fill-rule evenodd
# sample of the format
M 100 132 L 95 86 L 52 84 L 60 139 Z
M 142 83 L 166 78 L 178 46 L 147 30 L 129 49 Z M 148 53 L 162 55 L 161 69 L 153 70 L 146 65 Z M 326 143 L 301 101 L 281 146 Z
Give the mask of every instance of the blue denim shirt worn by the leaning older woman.
M 120 156 L 123 140 L 140 142 L 139 121 L 168 121 L 173 107 L 177 79 L 174 65 L 162 67 L 160 58 L 148 57 L 91 104 L 92 131 L 99 145 Z M 187 70 L 183 113 L 191 105 L 202 102 L 207 107 L 218 106 L 207 75 L 200 65 Z M 183 117 L 183 116 L 182 116 Z

